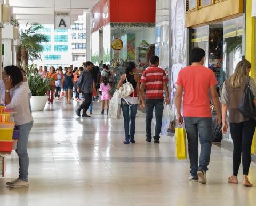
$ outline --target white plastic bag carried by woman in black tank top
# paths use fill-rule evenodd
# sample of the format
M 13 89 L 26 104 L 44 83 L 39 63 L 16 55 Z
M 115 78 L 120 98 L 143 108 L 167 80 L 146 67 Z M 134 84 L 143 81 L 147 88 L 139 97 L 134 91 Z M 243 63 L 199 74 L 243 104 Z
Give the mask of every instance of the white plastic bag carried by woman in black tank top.
M 116 90 L 109 102 L 108 117 L 120 119 L 121 115 L 121 98 L 119 98 L 119 90 Z

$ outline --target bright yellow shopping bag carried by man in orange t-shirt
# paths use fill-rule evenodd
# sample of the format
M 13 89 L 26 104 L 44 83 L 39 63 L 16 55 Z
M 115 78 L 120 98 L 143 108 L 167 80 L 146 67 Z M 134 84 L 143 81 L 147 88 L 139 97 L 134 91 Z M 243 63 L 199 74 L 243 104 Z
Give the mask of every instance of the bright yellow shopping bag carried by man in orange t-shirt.
M 176 157 L 187 159 L 186 131 L 181 124 L 175 129 Z

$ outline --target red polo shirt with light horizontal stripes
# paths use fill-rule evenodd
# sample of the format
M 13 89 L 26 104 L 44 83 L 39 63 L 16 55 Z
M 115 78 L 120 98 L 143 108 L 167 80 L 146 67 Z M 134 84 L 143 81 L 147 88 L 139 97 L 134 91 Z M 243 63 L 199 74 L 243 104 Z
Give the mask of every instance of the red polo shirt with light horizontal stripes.
M 163 99 L 163 83 L 167 82 L 167 76 L 162 68 L 149 67 L 142 76 L 141 83 L 146 84 L 146 99 Z

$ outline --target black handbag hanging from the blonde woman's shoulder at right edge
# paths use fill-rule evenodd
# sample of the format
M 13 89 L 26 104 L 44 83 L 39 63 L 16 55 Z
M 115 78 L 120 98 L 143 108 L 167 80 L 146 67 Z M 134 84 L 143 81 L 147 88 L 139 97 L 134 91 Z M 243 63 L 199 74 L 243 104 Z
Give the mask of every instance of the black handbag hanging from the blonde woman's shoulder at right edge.
M 253 104 L 254 95 L 250 90 L 249 85 L 250 77 L 247 77 L 247 82 L 244 89 L 244 95 L 241 103 L 238 106 L 238 110 L 246 117 L 256 120 L 256 110 Z

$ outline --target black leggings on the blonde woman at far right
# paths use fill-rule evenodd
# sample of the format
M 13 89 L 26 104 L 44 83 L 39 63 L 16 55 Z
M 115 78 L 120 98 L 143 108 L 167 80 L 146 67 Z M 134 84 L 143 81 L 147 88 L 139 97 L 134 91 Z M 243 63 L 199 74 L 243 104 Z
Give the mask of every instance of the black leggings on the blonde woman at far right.
M 230 133 L 233 140 L 233 175 L 237 176 L 242 152 L 243 175 L 248 175 L 251 164 L 251 146 L 256 121 L 230 123 Z

